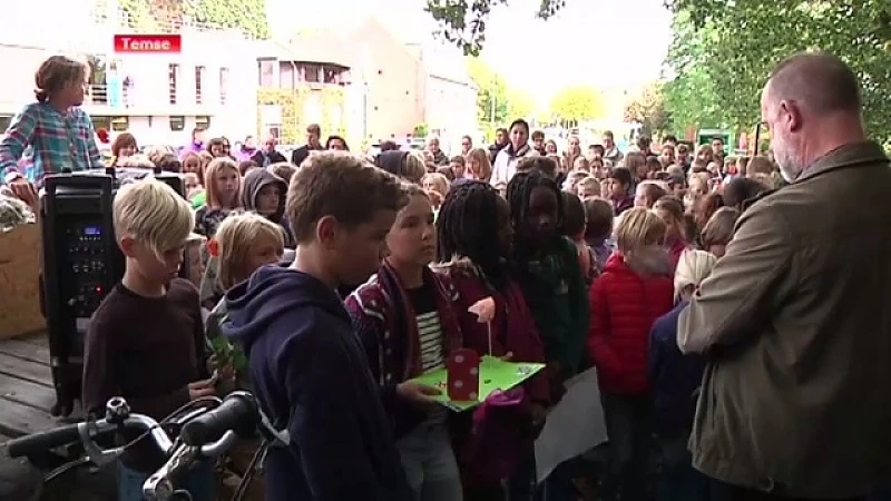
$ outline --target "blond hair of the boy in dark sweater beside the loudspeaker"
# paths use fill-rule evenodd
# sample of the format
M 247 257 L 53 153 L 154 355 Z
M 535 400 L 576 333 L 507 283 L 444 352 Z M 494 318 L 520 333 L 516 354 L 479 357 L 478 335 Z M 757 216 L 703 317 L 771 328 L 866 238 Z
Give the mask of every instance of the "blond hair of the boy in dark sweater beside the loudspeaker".
M 188 202 L 154 178 L 121 186 L 112 214 L 117 238 L 145 244 L 159 261 L 164 253 L 185 245 L 195 226 Z

